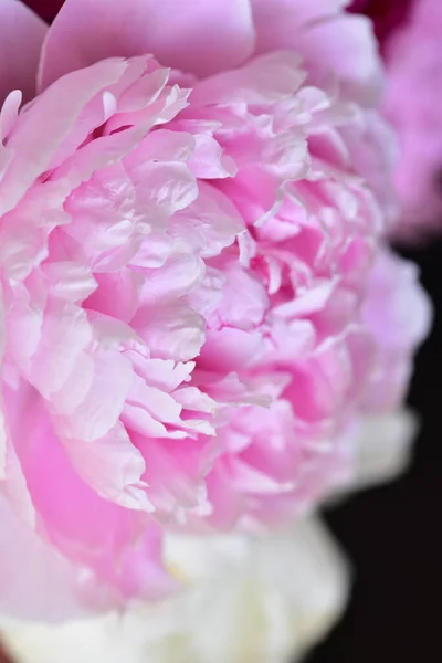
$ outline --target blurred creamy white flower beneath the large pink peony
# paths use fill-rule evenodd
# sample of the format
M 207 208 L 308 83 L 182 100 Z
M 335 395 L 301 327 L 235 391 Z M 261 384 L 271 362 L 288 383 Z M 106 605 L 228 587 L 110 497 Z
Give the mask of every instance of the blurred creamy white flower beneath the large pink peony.
M 20 663 L 283 663 L 301 656 L 343 611 L 347 565 L 316 518 L 272 538 L 173 537 L 180 597 L 125 617 L 64 625 L 8 624 Z

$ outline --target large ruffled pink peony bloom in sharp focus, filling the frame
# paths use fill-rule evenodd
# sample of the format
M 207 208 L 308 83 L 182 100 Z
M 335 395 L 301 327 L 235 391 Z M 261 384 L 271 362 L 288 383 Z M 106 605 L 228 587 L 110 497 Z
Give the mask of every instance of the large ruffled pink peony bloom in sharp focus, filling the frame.
M 2 609 L 162 596 L 165 527 L 294 517 L 373 383 L 400 400 L 428 305 L 380 257 L 381 75 L 343 4 L 0 2 Z

